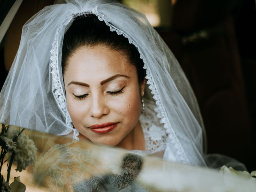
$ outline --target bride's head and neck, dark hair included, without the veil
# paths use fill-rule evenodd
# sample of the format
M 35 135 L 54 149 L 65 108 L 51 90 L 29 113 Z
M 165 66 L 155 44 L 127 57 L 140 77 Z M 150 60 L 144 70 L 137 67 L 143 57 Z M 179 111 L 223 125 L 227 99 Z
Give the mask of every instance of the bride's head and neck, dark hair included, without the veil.
M 79 138 L 145 150 L 138 119 L 146 72 L 127 38 L 93 14 L 76 18 L 64 35 L 62 74 Z

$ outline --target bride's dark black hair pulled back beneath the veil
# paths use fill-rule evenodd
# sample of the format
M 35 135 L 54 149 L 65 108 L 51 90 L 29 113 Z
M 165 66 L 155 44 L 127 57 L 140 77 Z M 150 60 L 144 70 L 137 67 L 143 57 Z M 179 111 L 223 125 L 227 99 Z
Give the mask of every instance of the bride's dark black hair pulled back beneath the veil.
M 143 68 L 143 60 L 137 48 L 130 44 L 128 38 L 110 31 L 104 21 L 98 20 L 97 16 L 88 14 L 79 17 L 70 26 L 64 35 L 62 46 L 62 74 L 67 67 L 68 58 L 81 46 L 94 47 L 99 44 L 108 46 L 113 50 L 122 51 L 129 63 L 136 67 L 138 82 L 141 84 L 146 76 Z

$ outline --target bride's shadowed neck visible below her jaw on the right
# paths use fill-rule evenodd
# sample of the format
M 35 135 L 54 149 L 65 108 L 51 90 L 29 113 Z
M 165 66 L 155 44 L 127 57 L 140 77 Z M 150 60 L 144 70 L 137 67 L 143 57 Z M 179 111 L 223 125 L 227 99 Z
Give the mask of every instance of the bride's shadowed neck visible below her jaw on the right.
M 138 121 L 134 129 L 116 146 L 128 150 L 145 150 L 144 134 L 140 121 Z

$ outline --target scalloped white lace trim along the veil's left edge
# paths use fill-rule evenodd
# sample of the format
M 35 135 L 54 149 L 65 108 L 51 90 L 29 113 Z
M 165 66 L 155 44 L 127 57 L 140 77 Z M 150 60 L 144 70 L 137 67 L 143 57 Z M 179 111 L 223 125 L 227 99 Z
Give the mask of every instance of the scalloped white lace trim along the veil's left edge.
M 64 26 L 66 26 L 67 24 L 69 24 L 71 20 L 72 20 L 72 18 L 70 18 L 67 22 L 62 23 L 62 25 L 58 28 L 58 30 L 55 34 L 54 42 L 52 43 L 52 49 L 50 51 L 50 53 L 51 53 L 50 60 L 52 61 L 50 63 L 50 66 L 52 67 L 52 70 L 51 70 L 52 94 L 53 94 L 60 110 L 62 111 L 62 114 L 64 114 L 64 116 L 66 117 L 66 125 L 68 126 L 68 129 L 74 132 L 73 138 L 75 140 L 79 140 L 77 137 L 79 135 L 79 132 L 73 128 L 72 120 L 71 120 L 70 114 L 67 109 L 65 94 L 62 89 L 62 85 L 61 85 L 61 81 L 60 81 L 59 65 L 58 65 L 58 50 L 59 50 L 58 34 L 59 34 L 60 29 L 63 28 Z

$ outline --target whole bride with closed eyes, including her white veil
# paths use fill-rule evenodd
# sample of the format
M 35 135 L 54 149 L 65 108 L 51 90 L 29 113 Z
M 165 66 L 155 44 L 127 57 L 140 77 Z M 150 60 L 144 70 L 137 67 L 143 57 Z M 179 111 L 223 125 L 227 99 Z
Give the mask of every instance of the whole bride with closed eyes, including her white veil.
M 117 2 L 67 2 L 24 25 L 0 122 L 205 166 L 196 98 L 145 16 Z

